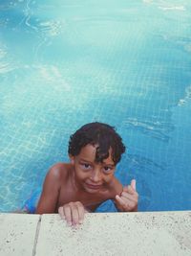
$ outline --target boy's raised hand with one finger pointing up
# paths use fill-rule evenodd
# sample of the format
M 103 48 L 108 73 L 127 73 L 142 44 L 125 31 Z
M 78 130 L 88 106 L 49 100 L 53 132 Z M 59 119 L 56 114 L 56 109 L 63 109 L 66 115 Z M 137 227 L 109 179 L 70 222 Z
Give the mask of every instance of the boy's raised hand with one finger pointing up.
M 123 187 L 120 197 L 116 196 L 117 209 L 122 212 L 138 211 L 138 192 L 136 191 L 136 179 L 132 179 L 131 185 Z

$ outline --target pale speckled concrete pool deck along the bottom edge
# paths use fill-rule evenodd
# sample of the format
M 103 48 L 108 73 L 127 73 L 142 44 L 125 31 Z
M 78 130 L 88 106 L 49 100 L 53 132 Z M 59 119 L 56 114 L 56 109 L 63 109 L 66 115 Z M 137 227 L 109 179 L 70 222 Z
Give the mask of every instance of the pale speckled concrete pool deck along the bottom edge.
M 191 255 L 191 211 L 87 214 L 74 228 L 56 214 L 0 214 L 0 256 Z

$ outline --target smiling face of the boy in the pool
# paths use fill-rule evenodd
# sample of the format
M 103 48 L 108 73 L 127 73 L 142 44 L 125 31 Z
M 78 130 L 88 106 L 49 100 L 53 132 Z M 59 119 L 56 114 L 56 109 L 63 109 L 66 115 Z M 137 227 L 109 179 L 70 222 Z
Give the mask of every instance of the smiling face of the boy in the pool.
M 109 151 L 109 157 L 103 162 L 97 163 L 96 148 L 91 144 L 81 149 L 78 155 L 71 156 L 71 162 L 74 164 L 74 172 L 77 183 L 89 193 L 97 193 L 106 189 L 113 180 L 116 165 L 112 159 L 112 149 Z

